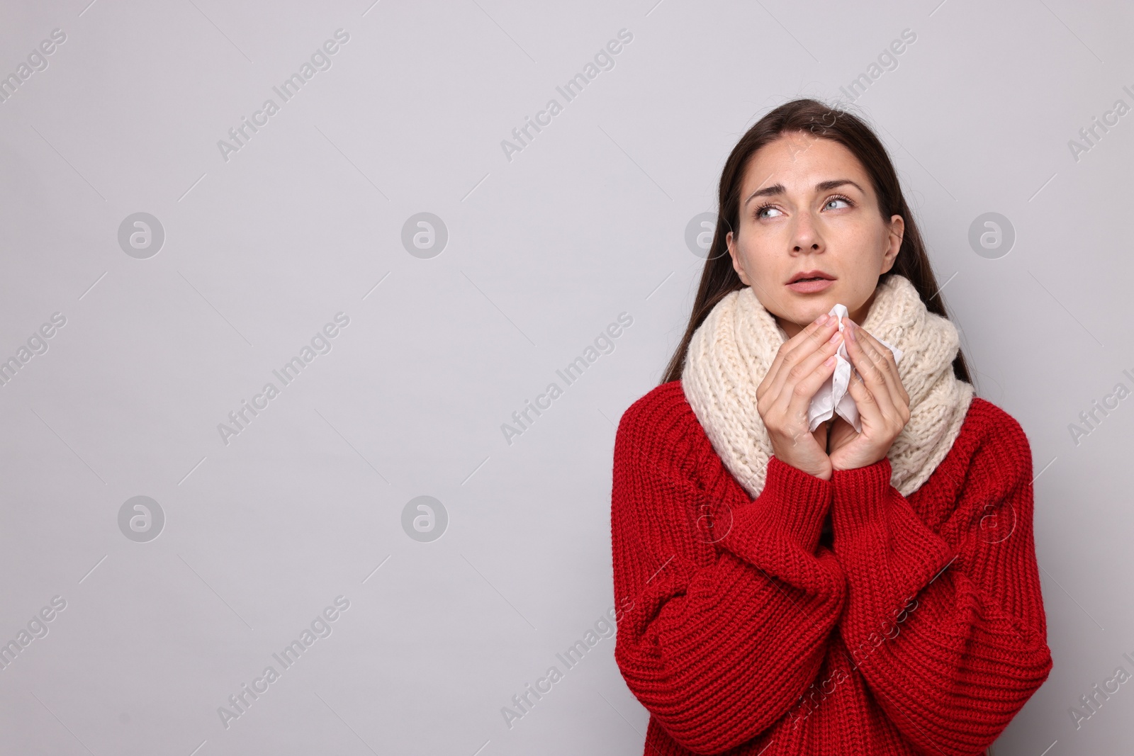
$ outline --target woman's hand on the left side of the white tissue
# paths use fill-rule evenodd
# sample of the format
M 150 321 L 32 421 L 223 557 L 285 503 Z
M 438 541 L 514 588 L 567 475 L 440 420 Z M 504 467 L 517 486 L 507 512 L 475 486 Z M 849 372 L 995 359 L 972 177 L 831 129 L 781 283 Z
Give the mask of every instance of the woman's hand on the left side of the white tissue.
M 827 424 L 807 431 L 807 407 L 831 373 L 843 341 L 839 318 L 820 315 L 814 323 L 785 341 L 764 380 L 756 387 L 756 411 L 768 428 L 772 453 L 782 462 L 831 479 L 827 456 Z

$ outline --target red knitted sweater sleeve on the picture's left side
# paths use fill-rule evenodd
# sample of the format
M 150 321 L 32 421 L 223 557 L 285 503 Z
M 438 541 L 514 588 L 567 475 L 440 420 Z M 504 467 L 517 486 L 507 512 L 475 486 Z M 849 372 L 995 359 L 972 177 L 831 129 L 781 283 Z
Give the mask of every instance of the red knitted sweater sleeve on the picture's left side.
M 675 741 L 720 754 L 818 674 L 846 596 L 833 552 L 815 555 L 831 483 L 772 458 L 759 498 L 730 481 L 738 495 L 713 501 L 652 433 L 624 423 L 615 444 L 615 660 Z

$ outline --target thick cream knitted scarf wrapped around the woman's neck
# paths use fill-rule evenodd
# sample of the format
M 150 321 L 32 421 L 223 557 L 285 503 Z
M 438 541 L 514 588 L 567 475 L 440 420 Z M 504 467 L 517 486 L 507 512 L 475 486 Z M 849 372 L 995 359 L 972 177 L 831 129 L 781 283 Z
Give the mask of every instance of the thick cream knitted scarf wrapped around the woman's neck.
M 968 411 L 973 387 L 953 374 L 959 340 L 947 318 L 925 309 L 908 279 L 879 282 L 862 326 L 903 351 L 902 385 L 909 422 L 887 457 L 890 484 L 916 491 L 945 458 Z M 764 487 L 771 442 L 756 411 L 756 387 L 787 334 L 751 287 L 731 291 L 693 333 L 682 388 L 725 466 L 753 498 Z

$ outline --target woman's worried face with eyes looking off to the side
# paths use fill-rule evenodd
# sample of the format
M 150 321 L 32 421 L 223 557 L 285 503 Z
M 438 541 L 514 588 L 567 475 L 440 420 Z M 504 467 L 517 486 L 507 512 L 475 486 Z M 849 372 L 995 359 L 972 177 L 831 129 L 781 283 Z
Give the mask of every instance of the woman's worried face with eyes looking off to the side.
M 900 215 L 882 218 L 849 150 L 794 131 L 748 159 L 726 240 L 741 280 L 790 338 L 836 304 L 862 323 L 904 229 Z

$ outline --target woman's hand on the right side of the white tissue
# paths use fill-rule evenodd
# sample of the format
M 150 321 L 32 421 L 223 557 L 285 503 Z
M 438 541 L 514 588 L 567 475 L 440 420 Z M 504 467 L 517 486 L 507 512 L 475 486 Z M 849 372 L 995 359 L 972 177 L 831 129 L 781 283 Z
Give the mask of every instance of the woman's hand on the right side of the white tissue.
M 858 407 L 862 433 L 841 417 L 831 427 L 831 467 L 848 470 L 873 465 L 890 451 L 890 444 L 909 422 L 909 394 L 898 377 L 894 352 L 849 318 L 844 321 L 847 356 L 857 371 L 848 390 Z

